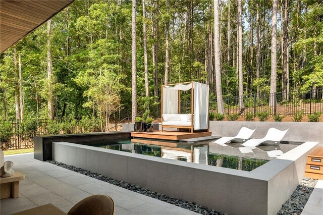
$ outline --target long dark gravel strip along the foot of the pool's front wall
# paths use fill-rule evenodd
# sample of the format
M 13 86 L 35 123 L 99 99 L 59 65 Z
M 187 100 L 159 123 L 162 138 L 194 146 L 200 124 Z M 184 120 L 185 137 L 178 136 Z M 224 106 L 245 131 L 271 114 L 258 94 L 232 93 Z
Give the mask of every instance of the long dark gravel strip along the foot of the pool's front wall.
M 124 182 L 124 181 L 117 181 L 117 180 L 112 179 L 110 177 L 103 176 L 103 175 L 100 175 L 100 174 L 97 174 L 97 173 L 94 173 L 94 172 L 91 172 L 91 171 L 87 171 L 87 170 L 83 170 L 81 168 L 77 168 L 77 167 L 74 167 L 74 166 L 59 163 L 59 162 L 56 162 L 55 160 L 47 160 L 47 162 L 50 163 L 50 164 L 57 165 L 59 167 L 63 167 L 65 169 L 77 172 L 77 173 L 81 173 L 83 175 L 86 175 L 86 176 L 101 180 L 101 181 L 105 181 L 107 183 L 110 183 L 110 184 L 113 184 L 113 185 L 116 185 L 116 186 L 119 186 L 119 187 L 122 187 L 122 188 L 125 188 L 125 189 L 128 189 L 128 190 L 131 190 L 131 191 L 134 191 L 134 192 L 137 192 L 137 193 L 140 193 L 140 194 L 143 194 L 143 195 L 158 199 L 160 201 L 165 201 L 167 203 L 174 204 L 176 206 L 179 206 L 179 207 L 182 207 L 182 208 L 185 208 L 185 209 L 188 209 L 188 210 L 200 213 L 200 214 L 204 214 L 204 215 L 228 215 L 228 213 L 222 213 L 222 212 L 219 212 L 217 210 L 201 206 L 201 205 L 196 204 L 196 203 L 191 202 L 191 201 L 185 201 L 183 199 L 177 199 L 177 198 L 169 197 L 169 196 L 166 196 L 164 194 L 156 193 L 156 192 L 144 189 L 142 187 L 139 187 L 139 186 Z

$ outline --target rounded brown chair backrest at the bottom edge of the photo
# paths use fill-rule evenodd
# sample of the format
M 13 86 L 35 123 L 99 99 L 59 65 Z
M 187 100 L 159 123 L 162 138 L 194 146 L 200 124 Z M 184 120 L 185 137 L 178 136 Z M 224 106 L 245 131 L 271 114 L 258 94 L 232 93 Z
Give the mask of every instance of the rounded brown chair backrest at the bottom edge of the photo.
M 110 196 L 92 195 L 75 204 L 67 214 L 114 215 L 115 203 Z

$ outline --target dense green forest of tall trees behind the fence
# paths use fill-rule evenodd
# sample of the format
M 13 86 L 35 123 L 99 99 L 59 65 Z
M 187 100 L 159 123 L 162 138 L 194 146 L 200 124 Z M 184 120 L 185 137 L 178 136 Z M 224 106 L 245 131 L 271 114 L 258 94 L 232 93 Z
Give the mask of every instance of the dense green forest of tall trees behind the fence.
M 161 85 L 191 80 L 288 100 L 323 86 L 322 28 L 323 1 L 77 0 L 1 53 L 0 118 L 157 117 Z

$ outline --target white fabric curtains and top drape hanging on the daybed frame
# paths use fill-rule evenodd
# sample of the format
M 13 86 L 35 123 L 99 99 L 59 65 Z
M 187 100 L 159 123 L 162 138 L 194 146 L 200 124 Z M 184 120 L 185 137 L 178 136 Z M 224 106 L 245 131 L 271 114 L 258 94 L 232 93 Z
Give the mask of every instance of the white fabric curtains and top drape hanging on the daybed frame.
M 162 104 L 162 114 L 180 114 L 179 90 L 187 91 L 193 86 L 193 116 L 194 116 L 194 130 L 208 129 L 208 85 L 198 82 L 190 82 L 189 84 L 176 84 L 175 86 L 164 85 Z

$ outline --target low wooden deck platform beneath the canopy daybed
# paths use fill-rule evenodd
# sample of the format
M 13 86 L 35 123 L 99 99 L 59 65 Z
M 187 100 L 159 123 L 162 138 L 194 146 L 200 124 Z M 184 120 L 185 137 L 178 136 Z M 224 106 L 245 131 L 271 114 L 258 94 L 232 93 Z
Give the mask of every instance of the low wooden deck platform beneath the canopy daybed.
M 208 137 L 211 136 L 211 132 L 179 132 L 179 131 L 154 131 L 154 132 L 131 132 L 131 137 L 134 138 L 147 138 L 147 139 L 159 139 L 159 140 L 172 140 L 179 141 L 183 139 L 196 138 L 196 137 Z

